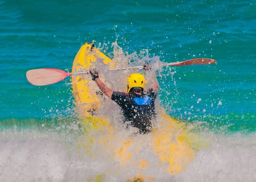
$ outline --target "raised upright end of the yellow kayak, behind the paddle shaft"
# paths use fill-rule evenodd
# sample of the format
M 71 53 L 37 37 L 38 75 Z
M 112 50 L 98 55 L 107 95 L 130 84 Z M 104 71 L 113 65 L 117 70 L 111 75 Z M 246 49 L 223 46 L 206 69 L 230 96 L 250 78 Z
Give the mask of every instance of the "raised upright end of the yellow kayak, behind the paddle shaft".
M 103 64 L 111 64 L 112 62 L 110 58 L 95 49 L 93 45 L 85 43 L 76 54 L 72 72 L 88 71 L 92 63 L 97 60 L 102 61 Z M 93 110 L 98 109 L 102 97 L 97 87 L 88 87 L 88 82 L 92 82 L 90 76 L 88 78 L 84 75 L 72 76 L 73 94 L 82 116 L 91 116 Z

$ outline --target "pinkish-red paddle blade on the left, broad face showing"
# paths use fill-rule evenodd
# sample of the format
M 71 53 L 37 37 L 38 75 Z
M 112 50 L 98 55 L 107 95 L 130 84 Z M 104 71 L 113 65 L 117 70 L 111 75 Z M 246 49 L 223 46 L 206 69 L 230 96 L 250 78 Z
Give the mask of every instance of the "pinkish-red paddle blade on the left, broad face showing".
M 32 69 L 26 72 L 29 83 L 37 86 L 55 84 L 69 75 L 71 73 L 52 68 Z

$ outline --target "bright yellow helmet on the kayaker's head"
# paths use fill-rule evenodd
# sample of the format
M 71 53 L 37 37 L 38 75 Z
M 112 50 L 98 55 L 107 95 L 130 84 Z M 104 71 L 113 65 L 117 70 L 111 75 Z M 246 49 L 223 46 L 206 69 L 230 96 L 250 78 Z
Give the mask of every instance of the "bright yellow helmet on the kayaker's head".
M 141 87 L 145 89 L 145 78 L 140 73 L 133 73 L 127 78 L 127 93 L 130 92 L 133 87 Z

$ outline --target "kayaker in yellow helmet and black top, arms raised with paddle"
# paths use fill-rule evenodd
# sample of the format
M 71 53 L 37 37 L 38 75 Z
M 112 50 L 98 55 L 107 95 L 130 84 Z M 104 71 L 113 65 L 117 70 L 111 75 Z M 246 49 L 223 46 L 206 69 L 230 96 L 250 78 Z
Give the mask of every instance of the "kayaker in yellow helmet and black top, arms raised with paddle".
M 148 64 L 144 65 L 144 69 L 148 70 Z M 137 127 L 139 133 L 151 131 L 151 121 L 156 118 L 154 102 L 159 90 L 157 81 L 153 82 L 154 86 L 151 89 L 145 91 L 144 76 L 133 73 L 127 78 L 127 91 L 117 92 L 108 88 L 99 79 L 98 69 L 90 69 L 90 74 L 99 89 L 122 108 L 127 126 Z

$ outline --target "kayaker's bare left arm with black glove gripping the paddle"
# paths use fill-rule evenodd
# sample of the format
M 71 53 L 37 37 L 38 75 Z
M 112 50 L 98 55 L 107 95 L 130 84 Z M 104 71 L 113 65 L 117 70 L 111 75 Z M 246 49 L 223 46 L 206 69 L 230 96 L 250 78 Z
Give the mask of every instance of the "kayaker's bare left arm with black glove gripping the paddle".
M 90 69 L 90 74 L 92 76 L 93 81 L 96 82 L 99 89 L 107 95 L 109 98 L 112 97 L 113 90 L 108 88 L 100 79 L 99 79 L 99 71 L 96 68 Z

